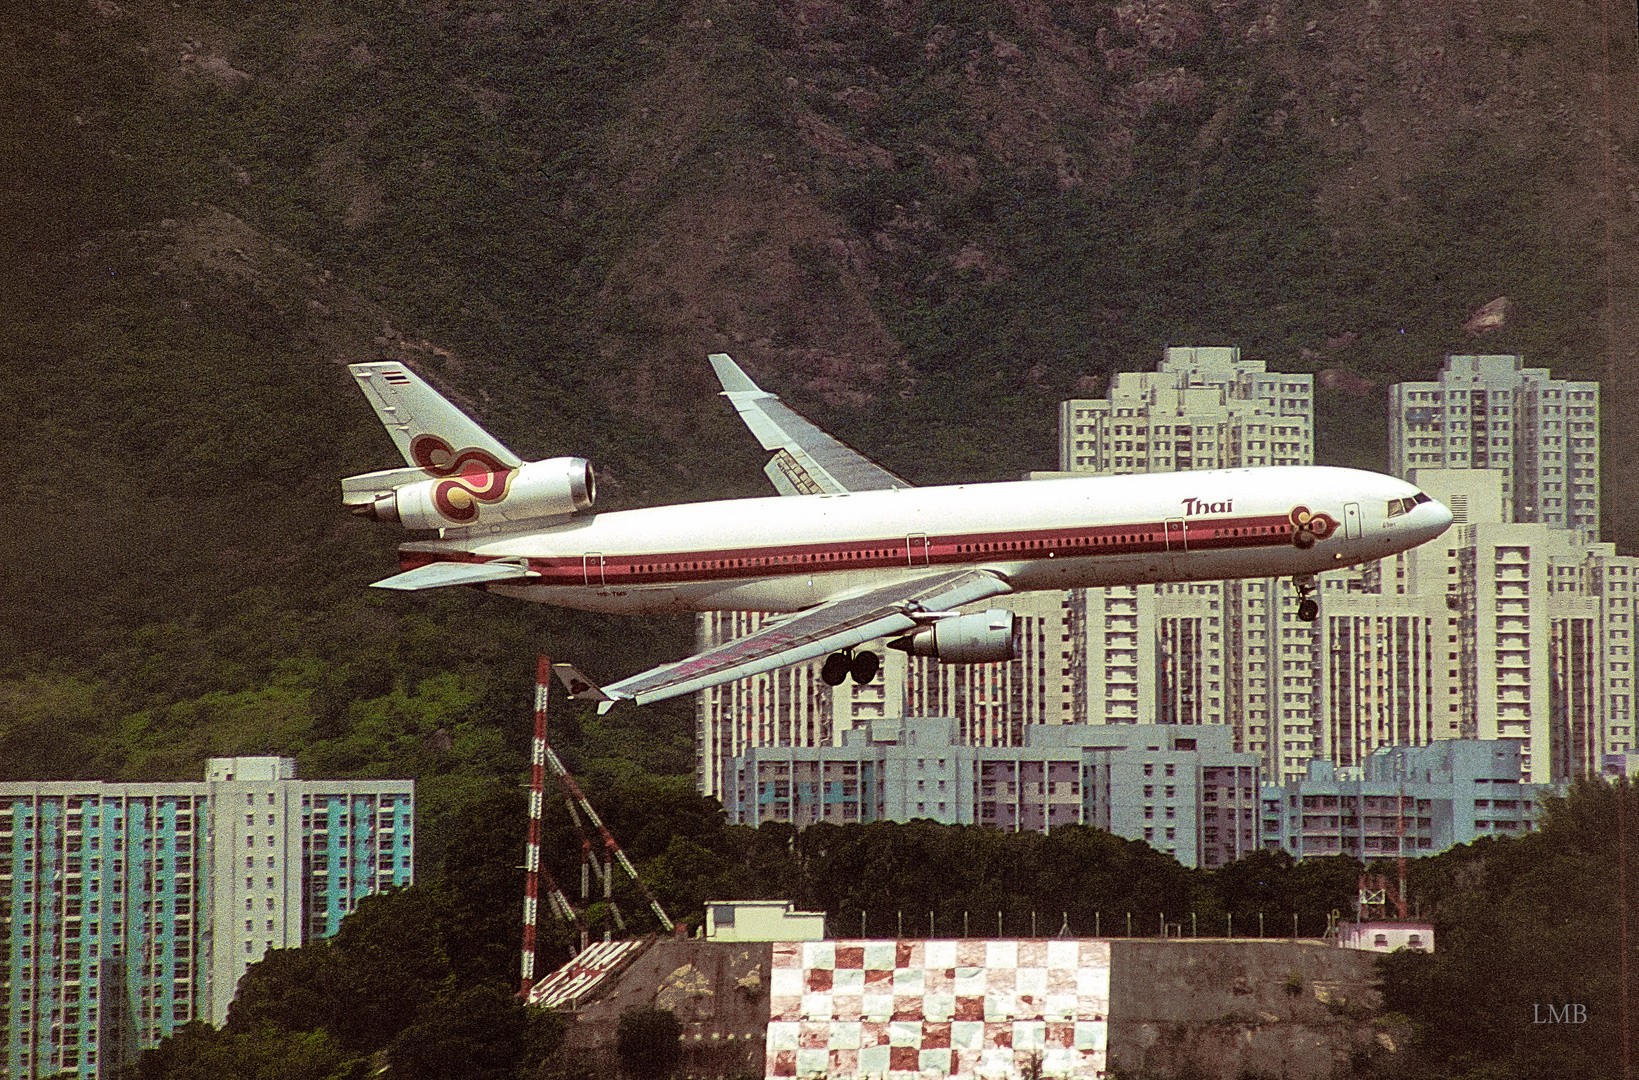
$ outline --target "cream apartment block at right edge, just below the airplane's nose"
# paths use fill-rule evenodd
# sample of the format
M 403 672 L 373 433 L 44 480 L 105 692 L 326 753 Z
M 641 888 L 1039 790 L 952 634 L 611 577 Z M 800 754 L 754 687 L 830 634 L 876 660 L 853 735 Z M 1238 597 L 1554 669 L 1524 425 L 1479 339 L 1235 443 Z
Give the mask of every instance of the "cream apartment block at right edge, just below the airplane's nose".
M 1383 746 L 1519 742 L 1523 775 L 1600 769 L 1632 741 L 1639 559 L 1577 529 L 1503 521 L 1505 470 L 1413 470 L 1452 529 L 1328 575 L 1314 642 L 1316 757 Z

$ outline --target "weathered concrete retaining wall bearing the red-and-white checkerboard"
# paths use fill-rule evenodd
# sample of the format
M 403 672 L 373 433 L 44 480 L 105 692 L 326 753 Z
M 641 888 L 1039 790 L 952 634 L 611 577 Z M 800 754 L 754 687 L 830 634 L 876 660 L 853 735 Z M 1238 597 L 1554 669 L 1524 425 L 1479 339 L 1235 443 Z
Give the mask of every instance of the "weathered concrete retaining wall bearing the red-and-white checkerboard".
M 924 951 L 928 942 L 836 942 L 842 946 L 859 946 L 860 951 L 872 944 L 903 952 L 915 959 Z M 964 941 L 946 942 L 952 949 L 960 947 L 957 960 L 978 955 L 1024 955 L 1033 951 L 1044 951 L 1046 941 Z M 1074 942 L 1059 942 L 1064 946 Z M 1093 946 L 1092 939 L 1083 941 Z M 770 1052 L 770 990 L 775 987 L 775 951 L 800 951 L 801 944 L 731 944 L 711 941 L 657 941 L 649 946 L 623 972 L 588 1001 L 574 1018 L 565 1046 L 567 1057 L 587 1060 L 597 1075 L 616 1077 L 618 1059 L 615 1055 L 615 1026 L 621 1011 L 631 1006 L 670 1010 L 682 1023 L 683 1029 L 683 1062 L 679 1077 L 695 1078 L 733 1078 L 741 1077 L 777 1077 L 806 1075 L 801 1069 L 792 1073 L 793 1064 L 787 1055 Z M 1000 951 L 998 951 L 1000 949 Z M 1080 949 L 1080 946 L 1077 946 Z M 1087 1067 L 1106 1069 L 1106 1075 L 1129 1077 L 1134 1080 L 1237 1080 L 1239 1077 L 1269 1077 L 1270 1080 L 1339 1080 L 1355 1075 L 1355 1067 L 1372 1055 L 1393 1052 L 1392 1032 L 1373 1023 L 1378 1011 L 1378 998 L 1372 992 L 1372 960 L 1375 954 L 1337 949 L 1311 941 L 1254 941 L 1254 939 L 1182 939 L 1182 941 L 1149 941 L 1149 939 L 1100 939 L 1096 949 L 1108 949 L 1108 1013 L 1096 1014 L 1103 1008 L 1101 995 L 1070 995 L 1075 1000 L 1077 1021 L 1088 1026 L 1100 1036 L 1098 1046 L 1088 1042 L 1085 1052 L 1067 1055 L 1065 1060 L 1054 1059 L 1060 1069 L 1080 1075 Z M 783 954 L 782 954 L 783 955 Z M 939 955 L 944 955 L 942 952 Z M 788 960 L 788 957 L 787 957 Z M 952 960 L 954 962 L 954 960 Z M 964 962 L 972 962 L 970 959 Z M 954 962 L 956 967 L 944 965 L 934 972 L 936 977 L 949 980 L 970 978 L 985 980 L 983 1008 L 987 1011 L 1003 1010 L 1008 1001 L 1011 1011 L 1031 1005 L 1052 1005 L 1047 998 L 1036 1001 L 1023 993 L 1019 977 L 1013 972 L 988 969 L 964 975 L 967 969 Z M 1015 960 L 1018 964 L 1018 960 Z M 869 962 L 862 960 L 869 969 Z M 787 964 L 788 967 L 788 964 Z M 815 970 L 810 972 L 808 967 Z M 782 1037 L 797 1032 L 798 1049 L 811 1047 L 803 1057 L 803 1065 L 813 1064 L 818 1057 L 826 1057 L 829 1067 L 828 1080 L 846 1080 L 849 1075 L 841 1064 L 865 1062 L 865 1054 L 854 1049 L 849 1052 L 834 1051 L 844 1046 L 838 1041 L 839 1032 L 859 1042 L 867 1031 L 856 1032 L 860 1023 L 847 1021 L 841 1011 L 828 1021 L 821 1013 L 826 1008 L 823 990 L 836 985 L 841 978 L 831 969 L 849 967 L 834 960 L 831 967 L 815 962 L 801 967 L 801 993 L 793 1006 L 787 1001 L 788 993 L 782 992 L 780 1024 Z M 823 969 L 823 970 L 821 970 Z M 903 969 L 903 970 L 900 970 Z M 928 1032 L 934 1024 L 929 1001 L 938 996 L 938 988 L 926 972 L 913 970 L 915 964 L 895 962 L 888 972 L 897 982 L 903 978 L 903 993 L 893 995 L 892 1023 L 888 1029 L 892 1042 L 901 1041 L 911 1046 L 910 1019 L 898 1016 L 906 1010 L 918 1016 L 918 1055 L 915 1065 L 924 1064 L 924 1047 L 929 1046 Z M 931 970 L 931 969 L 929 969 Z M 921 973 L 921 980 L 915 978 Z M 821 978 L 829 975 L 831 978 Z M 862 975 L 869 980 L 870 975 Z M 1008 982 L 1011 978 L 1011 982 Z M 787 980 L 790 982 L 790 980 Z M 1010 995 L 1000 990 L 992 993 L 990 982 L 997 987 L 1008 983 Z M 820 987 L 824 983 L 824 987 Z M 1049 977 L 1049 987 L 1052 987 Z M 915 993 L 911 993 L 915 990 Z M 818 995 L 818 996 L 816 996 Z M 952 1008 L 960 1005 L 952 982 Z M 995 1001 L 992 1001 L 995 998 Z M 1003 1000 L 1006 998 L 1006 1000 Z M 1098 1000 L 1095 1008 L 1092 1003 Z M 847 1001 L 852 1001 L 849 996 Z M 1024 1003 L 1024 1005 L 1021 1005 Z M 860 1003 L 865 1008 L 867 1003 Z M 800 1008 L 801 1014 L 792 1021 L 787 1013 Z M 852 1008 L 852 1005 L 849 1005 Z M 1090 1010 L 1090 1011 L 1088 1011 Z M 846 1010 L 844 1010 L 846 1011 Z M 1082 1011 L 1088 1011 L 1085 1018 Z M 810 1016 L 810 1013 L 815 1013 Z M 1000 1014 L 1000 1013 L 998 1013 Z M 857 1018 L 856 1018 L 857 1019 Z M 959 1019 L 956 1016 L 951 1018 Z M 975 1021 L 977 1023 L 977 1021 Z M 942 1028 L 952 1028 L 952 1039 L 960 1034 L 956 1023 L 939 1021 L 934 1034 L 942 1036 Z M 993 1023 L 980 1024 L 983 1046 L 977 1055 L 957 1052 L 956 1039 L 946 1059 L 960 1069 L 980 1069 L 990 1080 L 1000 1080 L 1005 1073 L 995 1073 L 995 1067 L 1005 1055 L 998 1055 L 1000 1046 L 992 1046 L 997 1034 L 990 1028 Z M 1044 1028 L 1046 1044 L 1077 1047 L 1080 1026 L 1062 1024 L 1069 1034 Z M 836 1028 L 836 1031 L 833 1031 Z M 846 1028 L 846 1031 L 842 1031 Z M 905 1031 L 900 1031 L 903 1028 Z M 1010 1024 L 1001 1024 L 1010 1028 Z M 1000 1028 L 998 1028 L 1000 1029 Z M 905 1036 L 901 1039 L 900 1036 Z M 1029 1032 L 1018 1034 L 1015 1029 L 1015 1049 L 1024 1046 Z M 1031 1036 L 1033 1037 L 1033 1036 Z M 1057 1039 L 1057 1042 L 1054 1042 Z M 869 1039 L 865 1039 L 869 1041 Z M 862 1042 L 860 1042 L 862 1044 Z M 783 1044 L 780 1044 L 783 1046 Z M 831 1054 L 823 1051 L 831 1047 Z M 779 1051 L 779 1047 L 772 1047 Z M 1096 1051 L 1096 1052 L 1095 1052 Z M 921 1069 L 910 1070 L 911 1055 L 901 1054 L 905 1060 L 890 1054 L 888 1072 L 872 1072 L 877 1080 L 921 1080 Z M 936 1057 L 936 1055 L 934 1055 Z M 1013 1060 L 1015 1072 L 1029 1055 Z M 870 1059 L 869 1064 L 875 1064 Z M 1047 1064 L 1042 1060 L 1042 1064 Z M 951 1067 L 946 1065 L 946 1067 Z M 988 1069 L 988 1072 L 985 1072 Z M 860 1072 L 860 1075 L 865 1075 Z M 957 1072 L 957 1075 L 972 1075 Z M 1051 1072 L 1047 1075 L 1052 1075 Z

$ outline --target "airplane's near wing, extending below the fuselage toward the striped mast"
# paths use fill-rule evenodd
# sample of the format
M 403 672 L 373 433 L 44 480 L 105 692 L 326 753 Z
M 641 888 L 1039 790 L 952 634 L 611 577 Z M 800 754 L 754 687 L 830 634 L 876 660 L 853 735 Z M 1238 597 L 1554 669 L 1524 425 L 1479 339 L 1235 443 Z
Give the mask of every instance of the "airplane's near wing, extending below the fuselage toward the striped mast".
M 1013 587 L 990 570 L 944 570 L 880 585 L 854 597 L 828 600 L 716 649 L 656 667 L 602 690 L 567 664 L 554 667 L 569 687 L 570 697 L 600 701 L 598 711 L 608 711 L 615 701 L 647 705 L 813 660 L 874 638 L 911 629 L 921 613 L 947 611 L 1010 592 Z

